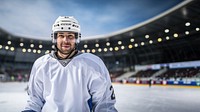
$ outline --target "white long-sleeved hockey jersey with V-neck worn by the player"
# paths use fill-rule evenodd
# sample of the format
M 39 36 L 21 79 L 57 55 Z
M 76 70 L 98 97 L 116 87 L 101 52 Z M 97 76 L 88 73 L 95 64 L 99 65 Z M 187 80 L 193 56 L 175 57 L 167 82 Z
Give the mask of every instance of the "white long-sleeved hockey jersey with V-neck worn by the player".
M 117 112 L 103 61 L 90 53 L 61 63 L 50 54 L 32 67 L 26 110 L 36 112 Z

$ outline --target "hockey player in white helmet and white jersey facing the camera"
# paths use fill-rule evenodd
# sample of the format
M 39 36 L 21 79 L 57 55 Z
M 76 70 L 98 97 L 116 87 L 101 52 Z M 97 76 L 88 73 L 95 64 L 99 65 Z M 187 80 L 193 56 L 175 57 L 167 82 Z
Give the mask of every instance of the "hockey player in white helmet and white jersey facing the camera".
M 80 38 L 75 18 L 57 18 L 55 51 L 34 62 L 23 112 L 117 112 L 108 70 L 99 57 L 78 51 Z

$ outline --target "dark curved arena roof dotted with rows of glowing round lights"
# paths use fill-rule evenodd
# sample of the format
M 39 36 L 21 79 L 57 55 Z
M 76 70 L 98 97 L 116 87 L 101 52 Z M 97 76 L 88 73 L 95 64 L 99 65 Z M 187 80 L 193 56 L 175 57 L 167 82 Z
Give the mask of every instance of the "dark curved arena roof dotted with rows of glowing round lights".
M 79 49 L 119 67 L 200 59 L 200 1 L 185 0 L 176 7 L 138 25 L 99 38 L 82 40 Z M 51 41 L 28 39 L 0 29 L 0 55 L 13 61 L 28 55 L 30 62 L 52 50 Z M 18 49 L 18 50 L 16 50 Z M 11 53 L 10 53 L 11 52 Z M 18 52 L 18 53 L 16 53 Z M 34 55 L 36 56 L 34 56 Z M 5 62 L 7 58 L 1 58 Z M 28 59 L 27 59 L 28 61 Z M 29 61 L 28 61 L 29 62 Z M 109 67 L 109 66 L 108 66 Z

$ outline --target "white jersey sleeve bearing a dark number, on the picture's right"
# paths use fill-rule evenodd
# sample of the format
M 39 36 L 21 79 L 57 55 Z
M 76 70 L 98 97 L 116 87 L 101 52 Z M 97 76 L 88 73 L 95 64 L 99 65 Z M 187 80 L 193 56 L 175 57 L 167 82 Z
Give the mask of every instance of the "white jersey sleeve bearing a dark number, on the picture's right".
M 90 94 L 94 112 L 117 112 L 115 108 L 115 94 L 110 75 L 104 64 L 101 65 L 100 72 L 93 77 Z

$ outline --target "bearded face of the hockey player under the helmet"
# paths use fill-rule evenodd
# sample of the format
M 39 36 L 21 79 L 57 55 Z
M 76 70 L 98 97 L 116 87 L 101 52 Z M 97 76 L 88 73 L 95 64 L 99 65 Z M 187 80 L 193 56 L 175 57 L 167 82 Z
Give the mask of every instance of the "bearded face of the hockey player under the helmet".
M 57 47 L 62 53 L 70 53 L 75 48 L 75 33 L 58 32 Z

